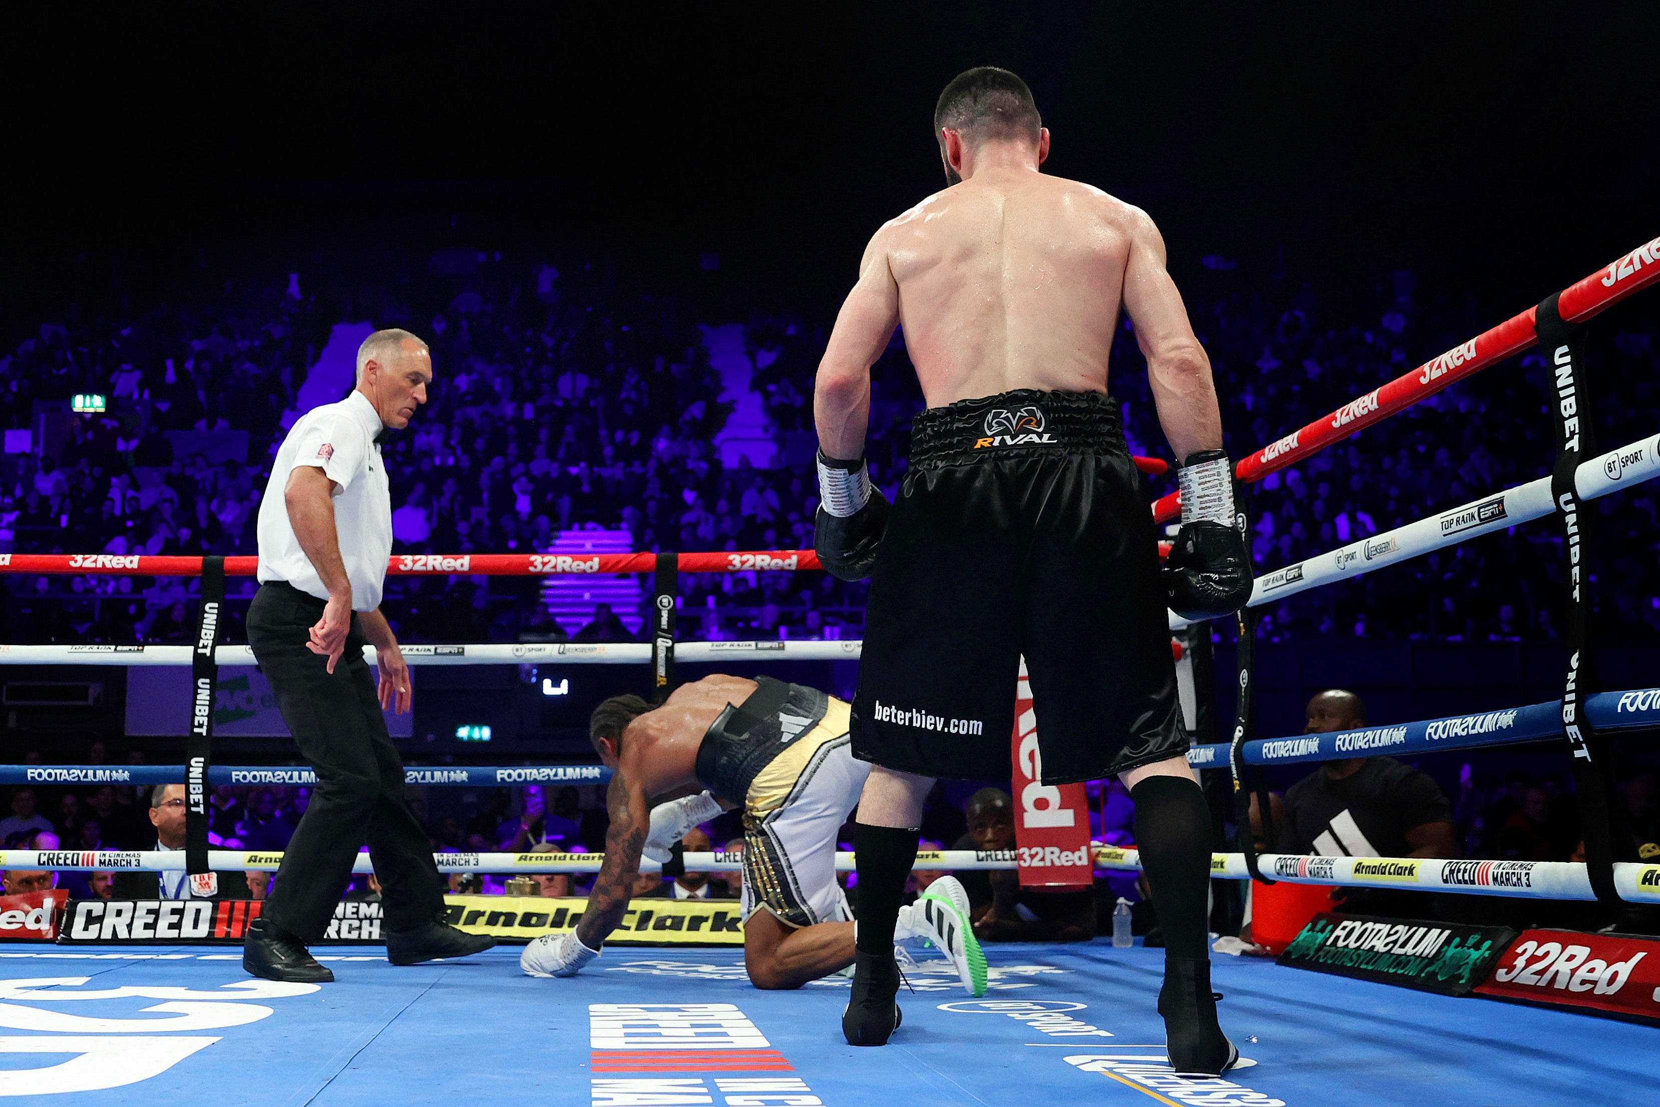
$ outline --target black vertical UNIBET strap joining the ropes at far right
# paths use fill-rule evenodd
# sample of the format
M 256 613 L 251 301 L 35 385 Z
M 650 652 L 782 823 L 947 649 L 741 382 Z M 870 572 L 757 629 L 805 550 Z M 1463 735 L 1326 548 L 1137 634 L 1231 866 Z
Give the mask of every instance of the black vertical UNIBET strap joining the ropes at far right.
M 1602 772 L 1607 742 L 1597 737 L 1585 712 L 1585 697 L 1597 684 L 1590 637 L 1590 513 L 1582 510 L 1575 475 L 1597 451 L 1595 420 L 1585 375 L 1585 327 L 1562 319 L 1557 297 L 1547 297 L 1534 314 L 1539 349 L 1545 355 L 1549 387 L 1554 392 L 1550 422 L 1555 425 L 1557 456 L 1550 471 L 1550 501 L 1562 519 L 1562 581 L 1567 606 L 1567 680 L 1562 689 L 1562 730 L 1574 763 L 1574 795 L 1585 833 L 1585 875 L 1597 900 L 1623 903 L 1614 886 L 1609 782 Z

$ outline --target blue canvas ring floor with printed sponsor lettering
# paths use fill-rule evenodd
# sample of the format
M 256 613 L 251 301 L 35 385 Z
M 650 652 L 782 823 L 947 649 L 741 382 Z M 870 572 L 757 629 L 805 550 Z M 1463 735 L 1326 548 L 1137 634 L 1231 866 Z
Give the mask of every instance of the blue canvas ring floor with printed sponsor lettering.
M 1237 958 L 1217 958 L 1213 984 L 1227 994 L 1223 1026 L 1257 1064 L 1227 1087 L 1180 1080 L 1154 1009 L 1162 951 L 1104 941 L 993 946 L 1001 979 L 1021 988 L 973 1002 L 923 961 L 908 973 L 916 992 L 900 992 L 905 1027 L 860 1051 L 840 1034 L 845 981 L 759 991 L 739 949 L 608 949 L 569 979 L 521 976 L 513 946 L 410 968 L 360 946 L 317 953 L 339 981 L 292 989 L 242 976 L 237 951 L 0 946 L 0 1100 L 591 1107 L 793 1095 L 845 1107 L 876 1095 L 969 1107 L 1134 1105 L 1152 1092 L 1177 1104 L 1540 1107 L 1580 1104 L 1585 1087 L 1599 1104 L 1652 1099 L 1652 1027 Z M 629 1022 L 676 1029 L 709 1011 L 722 1026 L 740 1017 L 755 1042 L 664 1049 L 672 1034 L 654 1044 Z M 629 1036 L 596 1039 L 596 1012 L 624 1019 Z

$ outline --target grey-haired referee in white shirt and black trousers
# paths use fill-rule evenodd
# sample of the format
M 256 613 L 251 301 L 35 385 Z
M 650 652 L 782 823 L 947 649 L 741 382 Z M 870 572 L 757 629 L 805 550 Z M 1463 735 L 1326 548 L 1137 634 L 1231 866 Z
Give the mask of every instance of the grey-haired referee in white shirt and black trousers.
M 382 428 L 408 427 L 428 383 L 425 342 L 407 330 L 364 339 L 352 395 L 294 423 L 259 505 L 259 593 L 247 609 L 247 641 L 282 722 L 317 773 L 271 901 L 242 944 L 242 968 L 266 979 L 334 979 L 305 946 L 322 941 L 364 841 L 380 878 L 393 964 L 495 944 L 442 921 L 443 881 L 403 798 L 403 763 L 382 715 L 393 704 L 407 712 L 412 694 L 398 641 L 380 614 L 392 500 L 378 438 Z M 378 695 L 365 642 L 375 646 Z

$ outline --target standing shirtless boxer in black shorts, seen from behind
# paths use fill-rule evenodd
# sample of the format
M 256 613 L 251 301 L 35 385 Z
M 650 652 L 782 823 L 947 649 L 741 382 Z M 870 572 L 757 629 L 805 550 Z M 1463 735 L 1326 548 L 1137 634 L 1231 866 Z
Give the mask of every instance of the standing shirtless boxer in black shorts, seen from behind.
M 818 367 L 815 546 L 873 578 L 853 700 L 858 953 L 847 1041 L 898 1026 L 890 923 L 936 777 L 1009 773 L 1021 654 L 1046 783 L 1117 773 L 1165 928 L 1170 1064 L 1218 1074 L 1205 893 L 1210 812 L 1187 767 L 1165 604 L 1217 617 L 1250 596 L 1210 362 L 1145 212 L 1046 176 L 1049 131 L 1006 70 L 951 81 L 935 110 L 950 188 L 885 224 Z M 1107 397 L 1119 309 L 1147 357 L 1182 463 L 1182 531 L 1164 571 L 1152 513 Z M 895 325 L 928 410 L 890 506 L 863 463 L 870 367 Z

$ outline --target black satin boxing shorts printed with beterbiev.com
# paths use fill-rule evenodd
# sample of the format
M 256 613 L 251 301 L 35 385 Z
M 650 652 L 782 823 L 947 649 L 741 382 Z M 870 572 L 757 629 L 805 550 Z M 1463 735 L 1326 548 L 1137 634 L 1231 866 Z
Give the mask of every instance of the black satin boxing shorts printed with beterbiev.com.
M 1157 529 L 1104 393 L 916 417 L 870 583 L 853 757 L 1008 780 L 1023 654 L 1044 783 L 1187 752 Z

